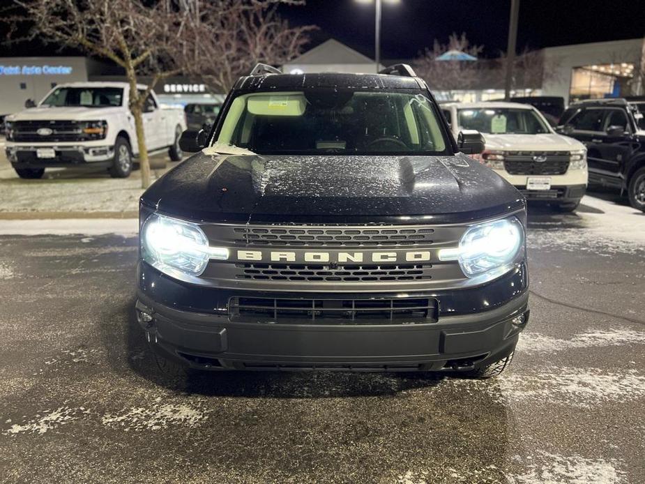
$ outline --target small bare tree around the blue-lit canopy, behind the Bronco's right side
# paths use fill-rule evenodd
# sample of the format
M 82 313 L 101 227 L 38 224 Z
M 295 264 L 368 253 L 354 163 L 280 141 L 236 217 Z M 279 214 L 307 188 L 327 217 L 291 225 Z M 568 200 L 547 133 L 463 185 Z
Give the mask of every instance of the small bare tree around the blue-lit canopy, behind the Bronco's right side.
M 434 40 L 432 49 L 426 48 L 415 61 L 415 68 L 431 89 L 443 91 L 458 91 L 472 89 L 476 86 L 482 74 L 483 64 L 481 61 L 437 61 L 441 54 L 449 50 L 464 52 L 477 57 L 483 52 L 483 45 L 471 45 L 466 33 L 460 36 L 452 33 L 448 37 L 448 43 L 439 43 Z

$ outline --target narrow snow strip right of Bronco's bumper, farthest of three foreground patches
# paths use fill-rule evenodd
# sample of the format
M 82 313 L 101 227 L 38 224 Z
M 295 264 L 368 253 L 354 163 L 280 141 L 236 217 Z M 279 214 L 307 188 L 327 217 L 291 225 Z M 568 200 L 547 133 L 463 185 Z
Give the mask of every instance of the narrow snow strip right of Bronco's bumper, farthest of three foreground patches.
M 575 335 L 570 340 L 561 340 L 540 333 L 522 333 L 517 343 L 517 350 L 523 353 L 553 352 L 565 349 L 589 348 L 602 346 L 645 344 L 645 332 L 628 328 L 609 328 L 606 331 L 586 331 Z

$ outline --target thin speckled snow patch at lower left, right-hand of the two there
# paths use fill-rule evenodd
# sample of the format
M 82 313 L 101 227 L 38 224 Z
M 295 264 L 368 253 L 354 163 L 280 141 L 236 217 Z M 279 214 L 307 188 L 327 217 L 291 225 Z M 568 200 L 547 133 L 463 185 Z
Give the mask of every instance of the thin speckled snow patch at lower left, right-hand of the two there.
M 103 416 L 103 425 L 130 430 L 159 430 L 169 425 L 196 427 L 208 418 L 203 411 L 186 404 L 163 404 L 154 408 L 133 407 L 119 414 Z

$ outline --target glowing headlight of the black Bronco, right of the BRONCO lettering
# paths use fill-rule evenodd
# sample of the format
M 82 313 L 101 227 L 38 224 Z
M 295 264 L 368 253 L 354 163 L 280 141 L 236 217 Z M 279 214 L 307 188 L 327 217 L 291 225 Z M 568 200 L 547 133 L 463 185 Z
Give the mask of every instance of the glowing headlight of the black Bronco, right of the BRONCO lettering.
M 510 269 L 524 247 L 524 229 L 515 217 L 472 225 L 459 248 L 439 251 L 440 260 L 457 260 L 464 274 L 473 278 L 496 269 Z

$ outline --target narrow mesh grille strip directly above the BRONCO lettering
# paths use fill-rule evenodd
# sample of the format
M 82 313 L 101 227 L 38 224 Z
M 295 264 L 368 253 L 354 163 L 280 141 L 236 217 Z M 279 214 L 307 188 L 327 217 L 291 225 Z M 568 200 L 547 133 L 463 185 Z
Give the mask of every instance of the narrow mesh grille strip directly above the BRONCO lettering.
M 311 245 L 315 247 L 431 244 L 428 227 L 235 227 L 235 243 L 243 245 Z

